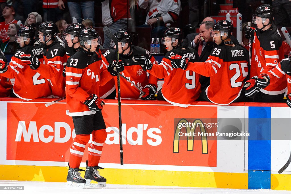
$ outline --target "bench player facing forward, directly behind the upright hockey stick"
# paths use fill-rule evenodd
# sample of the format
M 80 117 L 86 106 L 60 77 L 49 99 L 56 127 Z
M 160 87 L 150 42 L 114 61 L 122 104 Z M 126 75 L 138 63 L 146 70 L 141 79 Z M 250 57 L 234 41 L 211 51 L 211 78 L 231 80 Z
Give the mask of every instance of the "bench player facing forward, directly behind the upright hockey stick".
M 119 51 L 119 61 L 117 61 L 116 50 L 111 49 L 105 52 L 102 56 L 102 63 L 107 67 L 107 70 L 111 72 L 111 75 L 115 76 L 115 86 L 117 87 L 116 71 L 115 66 L 118 65 L 120 70 L 124 70 L 121 74 L 132 82 L 134 82 L 139 88 L 141 88 L 145 95 L 141 95 L 138 89 L 136 89 L 130 82 L 123 78 L 120 78 L 121 86 L 121 98 L 123 99 L 144 99 L 150 100 L 154 99 L 154 95 L 157 92 L 157 78 L 143 71 L 142 67 L 138 65 L 134 60 L 133 56 L 143 55 L 155 64 L 155 58 L 150 54 L 149 51 L 138 46 L 131 45 L 132 43 L 132 33 L 126 29 L 121 29 L 117 31 L 115 37 L 118 40 L 118 51 Z M 116 48 L 114 42 L 111 44 L 112 47 Z M 117 88 L 116 88 L 117 91 Z M 117 94 L 116 94 L 117 98 Z

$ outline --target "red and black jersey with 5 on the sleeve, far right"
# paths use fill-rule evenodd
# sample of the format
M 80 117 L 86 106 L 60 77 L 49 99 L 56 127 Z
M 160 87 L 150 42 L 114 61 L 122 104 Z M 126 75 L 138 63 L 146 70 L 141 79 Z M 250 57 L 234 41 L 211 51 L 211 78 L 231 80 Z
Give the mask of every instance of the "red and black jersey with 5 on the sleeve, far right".
M 272 70 L 283 58 L 284 46 L 276 26 L 272 25 L 272 29 L 267 31 L 256 29 L 252 43 L 250 78 Z M 269 95 L 284 93 L 287 87 L 286 80 L 278 79 L 277 81 L 278 83 L 271 83 L 260 91 Z

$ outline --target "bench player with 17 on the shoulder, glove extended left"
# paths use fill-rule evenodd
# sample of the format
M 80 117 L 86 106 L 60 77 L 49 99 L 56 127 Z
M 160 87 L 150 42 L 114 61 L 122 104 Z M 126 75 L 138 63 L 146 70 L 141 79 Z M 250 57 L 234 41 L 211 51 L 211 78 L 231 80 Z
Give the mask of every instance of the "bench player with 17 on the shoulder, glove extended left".
M 54 22 L 42 22 L 38 26 L 38 38 L 43 46 L 43 62 L 34 63 L 34 56 L 23 56 L 23 60 L 35 72 L 50 79 L 53 97 L 65 96 L 63 63 L 67 62 L 65 45 L 56 37 L 57 26 Z

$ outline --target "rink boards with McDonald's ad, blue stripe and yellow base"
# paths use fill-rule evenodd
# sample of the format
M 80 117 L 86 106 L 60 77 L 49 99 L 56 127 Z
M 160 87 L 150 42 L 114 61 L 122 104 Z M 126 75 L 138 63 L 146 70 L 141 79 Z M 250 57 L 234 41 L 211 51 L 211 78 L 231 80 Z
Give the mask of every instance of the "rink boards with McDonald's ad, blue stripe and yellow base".
M 75 136 L 65 102 L 45 107 L 51 99 L 0 100 L 0 179 L 64 182 Z M 102 114 L 108 135 L 100 166 L 108 183 L 291 190 L 291 167 L 278 174 L 290 154 L 291 109 L 283 103 L 197 102 L 180 108 L 159 101 L 122 100 L 124 165 L 120 165 L 118 102 L 105 102 Z M 231 125 L 250 136 L 177 136 L 182 119 L 214 123 L 193 128 L 197 134 L 227 132 Z M 180 132 L 191 128 L 182 127 Z M 87 158 L 85 149 L 81 167 L 86 167 Z

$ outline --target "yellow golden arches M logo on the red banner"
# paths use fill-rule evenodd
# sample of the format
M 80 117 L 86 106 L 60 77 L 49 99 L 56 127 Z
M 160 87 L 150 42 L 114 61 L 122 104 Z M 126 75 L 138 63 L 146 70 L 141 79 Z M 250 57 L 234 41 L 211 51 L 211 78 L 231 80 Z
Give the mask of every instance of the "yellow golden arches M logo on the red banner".
M 179 153 L 179 141 L 180 136 L 179 132 L 181 129 L 179 129 L 179 124 L 187 123 L 188 121 L 186 119 L 181 119 L 175 129 L 175 135 L 174 135 L 174 143 L 173 143 L 173 153 Z M 203 127 L 203 122 L 200 119 L 196 119 L 193 122 L 193 126 L 195 127 L 185 127 L 186 133 L 194 134 L 196 130 L 196 126 L 200 126 L 200 133 L 201 133 L 201 142 L 202 142 L 202 154 L 208 154 L 208 145 L 207 145 L 207 136 L 204 135 L 206 133 L 205 128 Z M 194 147 L 194 135 L 193 136 L 187 136 L 187 151 L 193 151 Z

